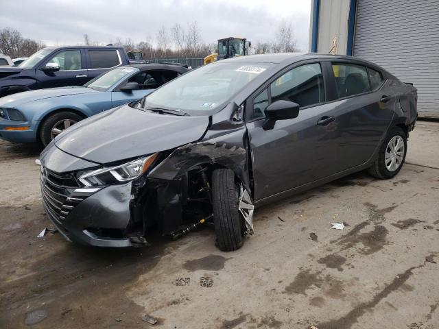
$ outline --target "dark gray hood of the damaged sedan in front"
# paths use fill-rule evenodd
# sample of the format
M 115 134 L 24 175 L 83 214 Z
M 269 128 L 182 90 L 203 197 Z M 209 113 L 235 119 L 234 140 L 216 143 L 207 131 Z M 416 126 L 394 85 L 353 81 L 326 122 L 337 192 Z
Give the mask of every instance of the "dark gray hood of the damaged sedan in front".
M 106 164 L 198 141 L 208 125 L 207 116 L 158 114 L 125 105 L 76 123 L 54 142 L 68 154 Z

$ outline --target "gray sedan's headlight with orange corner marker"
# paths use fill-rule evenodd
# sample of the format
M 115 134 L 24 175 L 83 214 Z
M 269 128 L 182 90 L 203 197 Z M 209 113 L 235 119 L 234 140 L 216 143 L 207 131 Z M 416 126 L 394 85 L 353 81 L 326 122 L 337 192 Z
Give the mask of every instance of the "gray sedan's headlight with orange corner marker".
M 81 175 L 79 180 L 85 186 L 128 182 L 134 180 L 134 178 L 138 178 L 142 173 L 145 173 L 157 156 L 158 153 L 154 153 L 150 156 L 145 156 L 144 158 L 130 161 L 119 166 L 90 171 Z

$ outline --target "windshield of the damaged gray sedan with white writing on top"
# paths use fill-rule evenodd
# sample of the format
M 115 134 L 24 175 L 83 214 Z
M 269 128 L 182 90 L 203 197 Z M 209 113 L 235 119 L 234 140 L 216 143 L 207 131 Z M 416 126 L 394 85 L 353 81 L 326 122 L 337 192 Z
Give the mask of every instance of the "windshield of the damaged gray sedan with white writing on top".
M 257 62 L 208 64 L 158 88 L 145 98 L 144 107 L 181 110 L 192 115 L 219 110 L 226 101 L 271 65 Z

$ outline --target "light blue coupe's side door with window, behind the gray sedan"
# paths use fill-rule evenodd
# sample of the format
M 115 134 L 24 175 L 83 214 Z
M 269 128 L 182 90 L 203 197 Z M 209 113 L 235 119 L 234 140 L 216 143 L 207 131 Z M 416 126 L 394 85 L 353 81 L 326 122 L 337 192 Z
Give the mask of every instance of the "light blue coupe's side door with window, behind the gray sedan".
M 178 76 L 174 71 L 144 71 L 137 73 L 133 77 L 121 83 L 118 88 L 111 93 L 112 106 L 116 107 L 122 104 L 129 103 L 141 99 L 143 96 L 148 95 L 154 91 L 154 89 L 165 84 L 169 80 Z M 127 82 L 137 82 L 139 84 L 139 90 L 132 90 L 130 92 L 119 90 L 120 86 L 123 86 Z

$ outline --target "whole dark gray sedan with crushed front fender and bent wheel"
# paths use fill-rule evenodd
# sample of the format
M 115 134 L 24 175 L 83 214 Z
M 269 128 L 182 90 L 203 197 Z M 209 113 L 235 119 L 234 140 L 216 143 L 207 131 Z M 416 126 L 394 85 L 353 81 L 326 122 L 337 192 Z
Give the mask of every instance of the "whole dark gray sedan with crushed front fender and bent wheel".
M 203 66 L 85 119 L 40 156 L 49 219 L 68 240 L 128 247 L 211 223 L 230 251 L 255 206 L 403 166 L 416 88 L 347 56 L 270 54 Z

